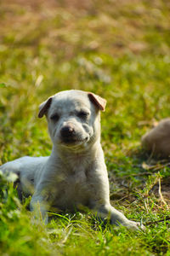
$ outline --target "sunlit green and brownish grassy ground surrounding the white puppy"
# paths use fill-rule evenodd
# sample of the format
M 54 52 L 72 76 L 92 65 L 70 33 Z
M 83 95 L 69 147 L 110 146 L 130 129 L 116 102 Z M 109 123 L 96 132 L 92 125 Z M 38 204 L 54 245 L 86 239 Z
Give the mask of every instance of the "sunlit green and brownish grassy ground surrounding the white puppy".
M 146 227 L 130 232 L 80 212 L 32 224 L 30 199 L 21 204 L 13 177 L 2 177 L 0 254 L 170 255 L 168 161 L 140 146 L 169 116 L 170 2 L 3 0 L 0 17 L 0 164 L 50 154 L 39 103 L 59 90 L 91 90 L 107 100 L 111 203 Z

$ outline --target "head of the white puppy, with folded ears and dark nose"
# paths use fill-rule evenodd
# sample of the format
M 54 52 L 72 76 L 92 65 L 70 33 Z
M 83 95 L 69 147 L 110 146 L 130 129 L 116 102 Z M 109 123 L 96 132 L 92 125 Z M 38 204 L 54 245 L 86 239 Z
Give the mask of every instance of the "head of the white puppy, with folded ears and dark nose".
M 100 135 L 99 111 L 105 111 L 105 99 L 82 90 L 64 90 L 42 102 L 38 117 L 46 115 L 54 145 L 85 148 Z

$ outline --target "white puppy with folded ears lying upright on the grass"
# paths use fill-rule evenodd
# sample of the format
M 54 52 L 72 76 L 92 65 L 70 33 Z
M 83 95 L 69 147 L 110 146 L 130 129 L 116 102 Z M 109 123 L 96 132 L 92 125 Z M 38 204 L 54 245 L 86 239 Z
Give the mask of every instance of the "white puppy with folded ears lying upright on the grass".
M 22 157 L 3 166 L 20 176 L 20 186 L 32 195 L 31 210 L 48 219 L 47 212 L 84 207 L 111 224 L 138 229 L 110 203 L 109 181 L 100 144 L 100 110 L 105 99 L 82 90 L 65 90 L 42 102 L 38 117 L 46 115 L 53 143 L 48 157 Z M 53 209 L 54 209 L 53 208 Z

